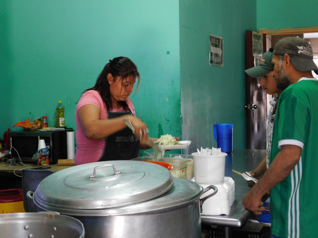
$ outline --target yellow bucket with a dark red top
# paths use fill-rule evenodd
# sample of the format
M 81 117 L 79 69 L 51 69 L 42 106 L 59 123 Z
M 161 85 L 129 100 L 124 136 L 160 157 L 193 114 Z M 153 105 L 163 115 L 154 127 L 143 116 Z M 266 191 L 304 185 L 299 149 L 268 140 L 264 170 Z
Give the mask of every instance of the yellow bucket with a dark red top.
M 0 214 L 25 212 L 22 189 L 0 191 Z

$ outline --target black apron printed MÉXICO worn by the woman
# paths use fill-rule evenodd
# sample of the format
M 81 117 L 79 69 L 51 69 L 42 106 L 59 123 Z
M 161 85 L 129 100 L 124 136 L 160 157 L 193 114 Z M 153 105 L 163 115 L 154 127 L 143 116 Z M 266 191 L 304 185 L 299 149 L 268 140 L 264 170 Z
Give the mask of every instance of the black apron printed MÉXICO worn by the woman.
M 107 119 L 116 118 L 129 112 L 111 112 L 107 110 Z M 137 138 L 131 129 L 125 128 L 105 138 L 105 147 L 100 161 L 131 160 L 139 157 L 140 138 Z

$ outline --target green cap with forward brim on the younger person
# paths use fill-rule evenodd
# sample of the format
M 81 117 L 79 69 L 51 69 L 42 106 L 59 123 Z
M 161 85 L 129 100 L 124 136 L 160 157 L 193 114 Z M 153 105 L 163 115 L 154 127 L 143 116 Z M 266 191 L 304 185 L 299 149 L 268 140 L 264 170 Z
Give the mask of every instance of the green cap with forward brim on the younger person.
M 274 70 L 274 66 L 272 65 L 272 59 L 273 59 L 273 48 L 269 49 L 269 51 L 266 51 L 259 64 L 251 69 L 246 69 L 245 72 L 253 77 L 253 78 L 259 78 L 262 77 Z

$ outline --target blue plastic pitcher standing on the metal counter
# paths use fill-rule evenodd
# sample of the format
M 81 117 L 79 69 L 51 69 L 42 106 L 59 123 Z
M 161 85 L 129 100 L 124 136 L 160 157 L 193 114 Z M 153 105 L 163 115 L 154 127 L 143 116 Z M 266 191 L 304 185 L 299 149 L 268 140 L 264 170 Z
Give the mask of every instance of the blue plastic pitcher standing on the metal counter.
M 233 150 L 233 125 L 219 124 L 218 122 L 213 126 L 213 136 L 218 142 L 218 148 L 224 153 L 231 153 Z

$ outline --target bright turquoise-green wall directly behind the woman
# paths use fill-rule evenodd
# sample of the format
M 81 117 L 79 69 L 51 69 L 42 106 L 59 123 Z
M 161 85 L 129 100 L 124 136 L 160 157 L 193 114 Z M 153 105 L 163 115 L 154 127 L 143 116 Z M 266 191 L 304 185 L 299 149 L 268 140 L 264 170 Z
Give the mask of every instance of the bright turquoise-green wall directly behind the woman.
M 177 0 L 2 0 L 0 13 L 1 137 L 28 118 L 48 116 L 55 126 L 59 100 L 75 128 L 75 102 L 117 56 L 139 69 L 131 99 L 150 136 L 181 136 Z

